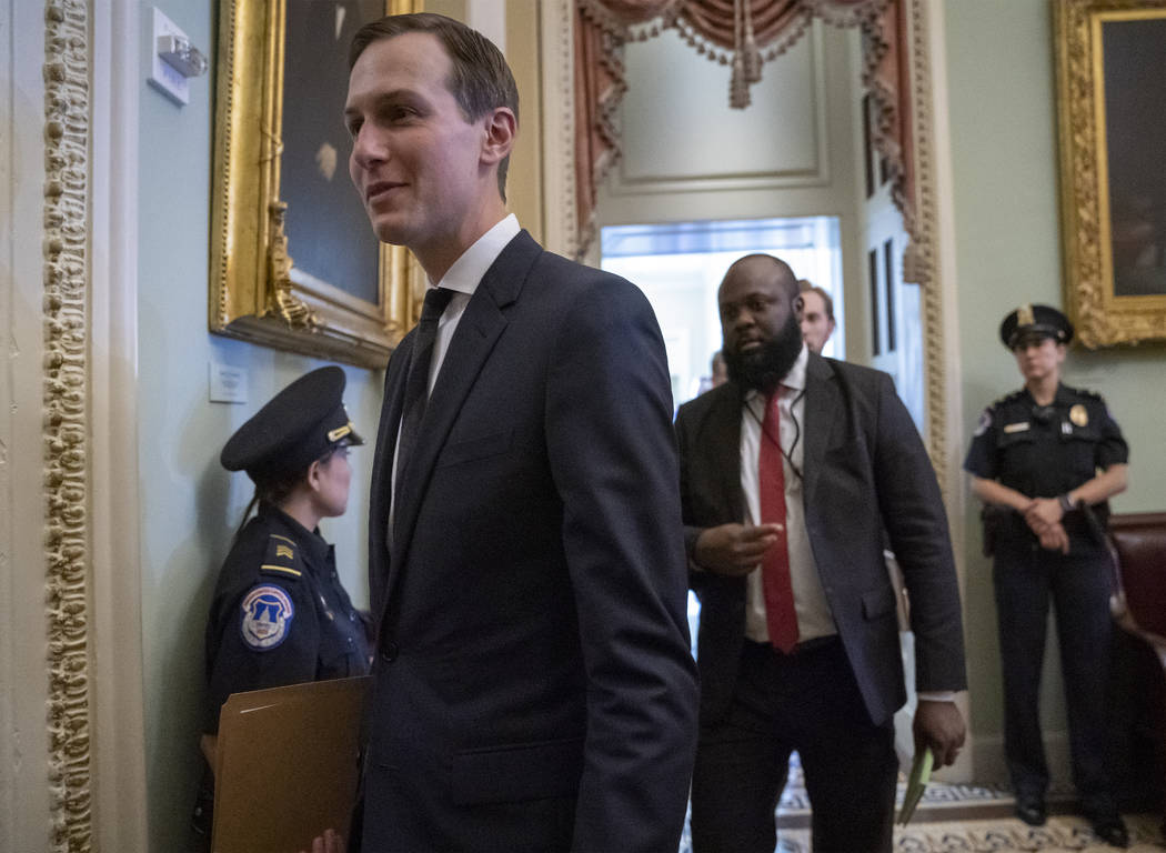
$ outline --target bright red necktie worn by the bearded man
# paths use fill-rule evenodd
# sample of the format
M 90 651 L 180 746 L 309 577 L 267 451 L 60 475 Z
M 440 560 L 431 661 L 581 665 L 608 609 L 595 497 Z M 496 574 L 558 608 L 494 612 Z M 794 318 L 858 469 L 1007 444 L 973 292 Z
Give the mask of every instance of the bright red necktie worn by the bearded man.
M 794 610 L 794 589 L 789 582 L 789 548 L 786 531 L 786 476 L 781 470 L 781 419 L 778 399 L 781 387 L 765 403 L 759 454 L 759 489 L 761 524 L 778 525 L 778 540 L 761 558 L 761 583 L 765 589 L 765 617 L 770 627 L 770 642 L 785 653 L 798 644 L 798 613 Z

